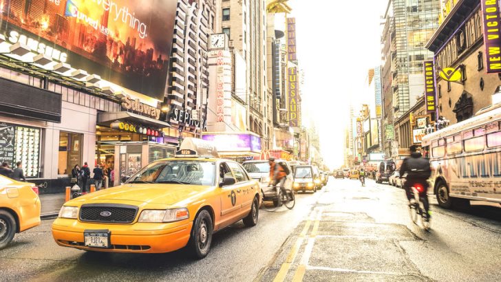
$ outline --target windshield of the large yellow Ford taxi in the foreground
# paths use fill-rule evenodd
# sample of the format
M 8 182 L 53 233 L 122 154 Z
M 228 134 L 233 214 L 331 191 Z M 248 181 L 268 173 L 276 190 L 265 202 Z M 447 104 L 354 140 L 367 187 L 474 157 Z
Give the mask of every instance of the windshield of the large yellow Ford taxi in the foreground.
M 186 185 L 215 185 L 215 163 L 197 160 L 160 160 L 145 166 L 127 184 L 160 183 Z

